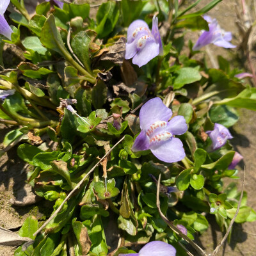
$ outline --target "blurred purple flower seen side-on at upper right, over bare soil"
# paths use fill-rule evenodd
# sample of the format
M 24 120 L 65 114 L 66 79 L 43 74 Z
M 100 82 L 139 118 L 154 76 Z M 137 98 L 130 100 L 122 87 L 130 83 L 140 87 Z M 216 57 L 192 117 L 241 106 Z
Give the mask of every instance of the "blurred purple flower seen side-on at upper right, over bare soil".
M 199 36 L 196 44 L 193 46 L 193 51 L 198 51 L 200 48 L 207 44 L 214 44 L 224 48 L 235 48 L 236 45 L 230 44 L 232 40 L 232 33 L 226 32 L 220 28 L 216 19 L 204 15 L 204 19 L 209 24 L 209 31 L 202 30 L 202 34 Z

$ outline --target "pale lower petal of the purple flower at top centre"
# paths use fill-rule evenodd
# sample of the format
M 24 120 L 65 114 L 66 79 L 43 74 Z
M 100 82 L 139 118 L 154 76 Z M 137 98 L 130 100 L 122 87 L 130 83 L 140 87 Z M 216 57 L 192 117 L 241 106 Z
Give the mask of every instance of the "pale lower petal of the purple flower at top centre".
M 148 61 L 152 60 L 159 54 L 159 44 L 155 42 L 153 38 L 147 38 L 145 46 L 143 49 L 135 54 L 132 59 L 132 63 L 138 65 L 139 67 L 146 65 Z

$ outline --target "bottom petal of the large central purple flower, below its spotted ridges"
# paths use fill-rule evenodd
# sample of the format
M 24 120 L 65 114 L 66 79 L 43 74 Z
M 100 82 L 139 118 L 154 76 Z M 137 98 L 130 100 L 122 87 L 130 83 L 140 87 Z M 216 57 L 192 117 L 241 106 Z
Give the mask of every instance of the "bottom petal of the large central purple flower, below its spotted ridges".
M 163 143 L 150 145 L 150 150 L 161 161 L 174 163 L 182 160 L 186 154 L 182 142 L 178 138 L 172 138 Z

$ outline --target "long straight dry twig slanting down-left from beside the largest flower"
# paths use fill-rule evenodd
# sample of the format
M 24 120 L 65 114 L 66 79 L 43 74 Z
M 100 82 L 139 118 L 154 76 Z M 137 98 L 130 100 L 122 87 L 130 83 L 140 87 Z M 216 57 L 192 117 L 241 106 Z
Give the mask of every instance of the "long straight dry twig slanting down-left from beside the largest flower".
M 93 166 L 93 168 L 83 177 L 83 179 L 80 180 L 80 182 L 76 185 L 76 187 L 74 189 L 72 189 L 72 191 L 68 194 L 68 196 L 63 200 L 63 202 L 61 203 L 61 205 L 58 207 L 58 209 L 52 214 L 52 216 L 45 221 L 44 225 L 42 225 L 42 227 L 40 227 L 34 234 L 33 236 L 36 236 L 38 233 L 40 233 L 47 225 L 48 223 L 58 214 L 58 212 L 60 212 L 60 210 L 62 209 L 63 205 L 65 204 L 65 202 L 67 202 L 67 200 L 70 198 L 70 196 L 72 196 L 74 194 L 74 192 L 79 189 L 79 187 L 81 186 L 81 184 L 83 184 L 84 180 L 94 171 L 94 169 L 104 160 L 105 157 L 107 157 L 109 155 L 109 153 L 122 141 L 124 140 L 124 137 L 122 139 L 120 139 L 118 142 L 116 142 L 116 144 L 100 159 L 100 161 L 95 164 L 95 166 Z

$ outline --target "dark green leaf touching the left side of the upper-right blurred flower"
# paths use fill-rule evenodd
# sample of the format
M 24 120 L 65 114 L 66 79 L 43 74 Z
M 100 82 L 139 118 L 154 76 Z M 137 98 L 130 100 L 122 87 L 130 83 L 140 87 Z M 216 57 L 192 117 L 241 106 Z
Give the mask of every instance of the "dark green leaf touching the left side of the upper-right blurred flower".
M 175 24 L 175 28 L 204 29 L 209 31 L 208 22 L 202 16 L 188 17 Z

